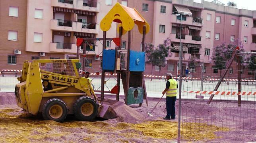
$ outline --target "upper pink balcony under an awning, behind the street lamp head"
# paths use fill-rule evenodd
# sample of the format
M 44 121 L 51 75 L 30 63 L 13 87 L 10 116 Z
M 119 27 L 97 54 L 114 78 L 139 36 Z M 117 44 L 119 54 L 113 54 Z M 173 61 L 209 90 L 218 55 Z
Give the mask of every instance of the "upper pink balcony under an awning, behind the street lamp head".
M 171 15 L 171 23 L 180 23 L 180 17 L 175 14 Z M 193 26 L 203 26 L 203 19 L 197 17 L 182 17 L 182 24 L 193 25 Z

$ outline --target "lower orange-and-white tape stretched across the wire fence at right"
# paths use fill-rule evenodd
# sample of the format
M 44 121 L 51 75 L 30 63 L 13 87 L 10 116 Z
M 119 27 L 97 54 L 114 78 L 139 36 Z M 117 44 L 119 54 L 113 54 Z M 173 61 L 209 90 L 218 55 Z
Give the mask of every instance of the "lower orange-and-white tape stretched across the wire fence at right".
M 238 91 L 183 91 L 196 94 L 214 94 L 214 95 L 256 95 L 256 92 L 238 92 Z

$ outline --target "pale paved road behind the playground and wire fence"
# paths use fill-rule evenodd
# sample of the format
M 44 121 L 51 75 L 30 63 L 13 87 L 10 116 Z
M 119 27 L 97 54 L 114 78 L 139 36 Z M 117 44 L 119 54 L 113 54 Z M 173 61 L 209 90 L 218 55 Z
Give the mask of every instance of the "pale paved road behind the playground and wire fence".
M 91 77 L 93 79 L 93 77 Z M 105 79 L 106 84 L 105 84 L 105 90 L 110 91 L 112 87 L 116 85 L 116 80 L 114 78 L 108 79 L 106 77 Z M 1 92 L 14 92 L 15 85 L 19 83 L 17 81 L 17 77 L 0 77 L 0 88 Z M 100 78 L 94 78 L 92 81 L 95 90 L 100 90 L 101 87 L 101 79 Z M 161 97 L 162 91 L 165 88 L 166 81 L 163 79 L 153 79 L 153 81 L 150 81 L 150 79 L 145 79 L 145 84 L 147 88 L 147 95 L 148 97 Z M 203 91 L 213 91 L 217 84 L 217 81 L 214 81 L 213 83 L 203 83 Z M 122 88 L 122 82 L 120 82 L 120 94 L 124 94 L 124 90 Z M 201 81 L 188 81 L 184 82 L 182 81 L 182 91 L 200 91 L 201 87 Z M 229 82 L 229 85 L 227 83 L 222 83 L 221 86 L 219 87 L 218 91 L 237 91 L 237 84 L 236 82 Z M 256 91 L 256 83 L 252 84 L 251 82 L 247 84 L 242 83 L 241 86 L 241 91 L 242 92 L 255 92 Z M 204 99 L 209 98 L 209 94 L 203 94 Z M 182 92 L 182 98 L 186 99 L 198 99 L 196 98 L 196 94 L 194 93 L 187 93 L 187 92 Z M 237 100 L 237 96 L 231 95 L 231 96 L 223 96 L 223 95 L 215 95 L 213 99 L 219 99 L 219 100 Z M 246 101 L 256 101 L 255 95 L 251 96 L 242 96 L 242 100 Z

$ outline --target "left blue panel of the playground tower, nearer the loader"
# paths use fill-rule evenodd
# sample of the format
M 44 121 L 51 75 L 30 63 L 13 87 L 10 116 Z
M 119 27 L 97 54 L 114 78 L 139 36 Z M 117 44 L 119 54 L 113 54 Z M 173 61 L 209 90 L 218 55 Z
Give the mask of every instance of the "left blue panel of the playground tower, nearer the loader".
M 114 70 L 114 64 L 116 61 L 116 51 L 115 50 L 104 50 L 103 51 L 103 70 Z

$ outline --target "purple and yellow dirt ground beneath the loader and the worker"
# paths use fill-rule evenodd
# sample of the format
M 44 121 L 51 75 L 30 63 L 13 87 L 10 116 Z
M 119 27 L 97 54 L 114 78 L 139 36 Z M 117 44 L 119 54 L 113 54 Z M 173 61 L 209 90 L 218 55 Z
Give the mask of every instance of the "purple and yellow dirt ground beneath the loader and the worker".
M 0 142 L 176 142 L 178 100 L 175 120 L 162 120 L 166 114 L 164 99 L 153 111 L 153 117 L 147 115 L 158 100 L 149 99 L 148 107 L 145 103 L 142 107 L 120 103 L 116 119 L 80 122 L 70 115 L 59 123 L 23 112 L 17 107 L 14 94 L 1 92 Z M 205 101 L 182 100 L 182 142 L 256 141 L 255 103 L 236 106 L 236 102 L 206 105 Z

